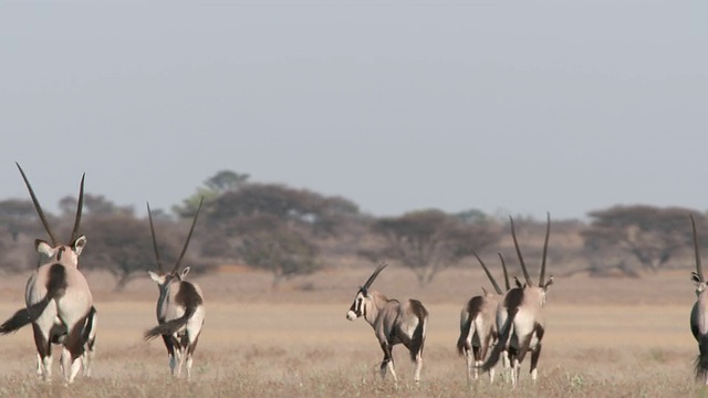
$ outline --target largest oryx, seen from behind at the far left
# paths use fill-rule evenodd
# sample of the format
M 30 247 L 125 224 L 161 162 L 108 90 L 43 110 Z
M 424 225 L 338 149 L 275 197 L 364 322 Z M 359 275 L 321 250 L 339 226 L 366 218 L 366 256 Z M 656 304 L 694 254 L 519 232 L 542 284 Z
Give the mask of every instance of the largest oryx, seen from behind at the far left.
M 79 190 L 79 205 L 74 229 L 69 243 L 60 243 L 52 232 L 46 217 L 32 190 L 30 181 L 18 164 L 34 208 L 51 239 L 51 243 L 37 239 L 35 249 L 40 254 L 39 266 L 27 283 L 24 300 L 27 307 L 0 325 L 0 334 L 17 332 L 32 324 L 34 344 L 38 352 L 38 375 L 45 381 L 52 379 L 52 344 L 61 344 L 61 368 L 64 383 L 73 383 L 82 366 L 95 320 L 93 296 L 84 275 L 77 270 L 79 255 L 86 244 L 86 237 L 79 234 L 84 197 L 84 177 Z M 93 349 L 93 344 L 91 345 Z

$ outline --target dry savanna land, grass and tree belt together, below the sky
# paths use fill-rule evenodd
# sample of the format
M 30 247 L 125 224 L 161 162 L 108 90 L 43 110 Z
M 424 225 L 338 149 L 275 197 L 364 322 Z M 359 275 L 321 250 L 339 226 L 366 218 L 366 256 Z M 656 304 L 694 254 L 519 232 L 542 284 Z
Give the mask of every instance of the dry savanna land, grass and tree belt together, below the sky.
M 143 342 L 156 323 L 158 295 L 146 273 L 155 268 L 147 220 L 87 195 L 80 269 L 98 310 L 94 377 L 63 387 L 55 348 L 54 383 L 39 381 L 31 328 L 24 328 L 0 337 L 0 397 L 708 396 L 694 380 L 697 345 L 689 331 L 695 265 L 687 214 L 708 231 L 699 211 L 633 206 L 591 212 L 590 222 L 551 217 L 546 275 L 554 284 L 539 381 L 531 384 L 527 357 L 521 385 L 510 392 L 501 378 L 489 385 L 482 376 L 468 386 L 455 347 L 464 304 L 482 286 L 491 290 L 470 249 L 499 283 L 497 252 L 521 276 L 506 217 L 428 209 L 376 218 L 344 198 L 237 182 L 207 191 L 184 262 L 207 311 L 191 381 L 169 376 L 162 342 Z M 214 188 L 206 186 L 174 209 L 177 218 L 155 212 L 166 263 L 181 248 L 195 199 Z M 50 218 L 65 230 L 76 202 L 60 205 L 64 213 Z M 545 220 L 516 219 L 535 280 Z M 44 231 L 27 200 L 0 202 L 0 318 L 7 318 L 24 305 L 32 241 Z M 399 383 L 381 380 L 383 355 L 371 326 L 345 320 L 378 261 L 389 266 L 373 289 L 418 298 L 430 313 L 419 385 L 403 346 L 394 348 Z

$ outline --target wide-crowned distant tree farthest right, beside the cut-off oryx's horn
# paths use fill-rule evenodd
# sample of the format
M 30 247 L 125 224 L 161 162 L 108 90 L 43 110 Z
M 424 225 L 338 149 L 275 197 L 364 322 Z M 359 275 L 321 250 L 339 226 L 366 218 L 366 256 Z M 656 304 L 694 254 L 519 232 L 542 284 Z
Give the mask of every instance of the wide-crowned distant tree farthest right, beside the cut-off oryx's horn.
M 677 207 L 615 206 L 591 211 L 591 224 L 582 232 L 585 249 L 595 253 L 620 250 L 642 268 L 658 272 L 693 244 L 689 213 L 699 224 L 708 226 L 705 214 Z M 622 261 L 620 265 L 626 268 Z

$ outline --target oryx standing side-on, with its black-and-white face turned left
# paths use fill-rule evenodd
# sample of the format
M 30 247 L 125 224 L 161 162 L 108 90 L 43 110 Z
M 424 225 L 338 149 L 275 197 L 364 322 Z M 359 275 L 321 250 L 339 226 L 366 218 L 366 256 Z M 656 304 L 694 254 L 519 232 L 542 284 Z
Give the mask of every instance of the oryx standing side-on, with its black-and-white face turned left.
M 386 370 L 389 370 L 394 381 L 398 381 L 394 370 L 392 349 L 396 344 L 403 344 L 410 353 L 410 360 L 416 364 L 414 380 L 418 383 L 423 368 L 423 347 L 428 311 L 417 300 L 409 298 L 400 303 L 397 300 L 387 298 L 379 292 L 368 290 L 386 265 L 386 263 L 379 264 L 368 276 L 366 283 L 356 292 L 354 302 L 346 313 L 346 318 L 354 321 L 364 316 L 364 320 L 374 328 L 381 349 L 384 352 L 384 360 L 382 360 L 379 368 L 382 378 L 386 376 Z

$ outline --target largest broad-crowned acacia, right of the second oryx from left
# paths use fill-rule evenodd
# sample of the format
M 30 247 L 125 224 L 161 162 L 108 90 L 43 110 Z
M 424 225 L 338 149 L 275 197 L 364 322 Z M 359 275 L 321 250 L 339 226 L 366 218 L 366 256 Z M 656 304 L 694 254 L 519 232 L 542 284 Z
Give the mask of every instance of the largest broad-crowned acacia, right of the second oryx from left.
M 222 254 L 228 247 L 248 265 L 272 272 L 273 286 L 319 270 L 316 238 L 335 233 L 339 220 L 357 212 L 345 199 L 275 184 L 242 185 L 207 210 L 208 228 L 221 234 L 208 248 L 218 241 Z

